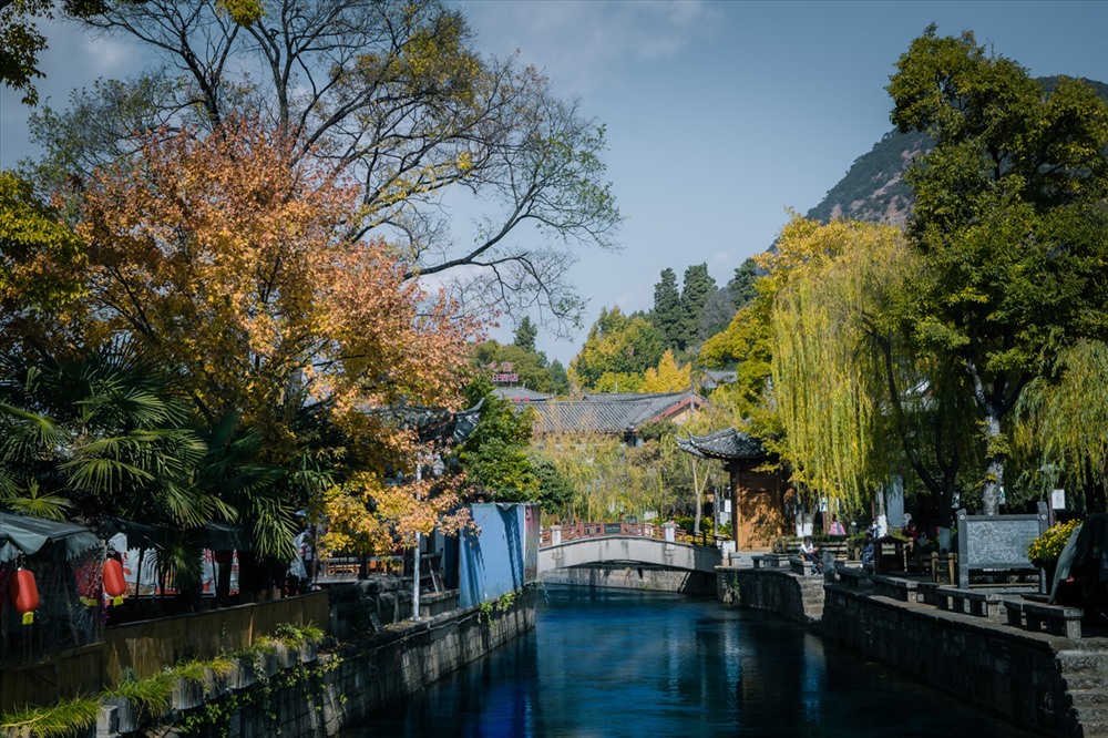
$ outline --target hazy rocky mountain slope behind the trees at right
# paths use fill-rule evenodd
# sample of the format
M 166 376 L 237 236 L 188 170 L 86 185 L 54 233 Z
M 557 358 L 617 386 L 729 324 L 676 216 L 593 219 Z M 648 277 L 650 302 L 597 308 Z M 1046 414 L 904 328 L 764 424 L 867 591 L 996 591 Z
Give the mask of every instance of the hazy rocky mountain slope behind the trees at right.
M 1047 93 L 1058 84 L 1057 76 L 1039 78 Z M 1083 80 L 1108 102 L 1108 84 Z M 832 218 L 851 218 L 903 225 L 912 209 L 912 192 L 904 182 L 904 172 L 912 158 L 931 148 L 925 133 L 890 131 L 868 153 L 862 154 L 847 175 L 828 191 L 807 217 L 820 223 Z

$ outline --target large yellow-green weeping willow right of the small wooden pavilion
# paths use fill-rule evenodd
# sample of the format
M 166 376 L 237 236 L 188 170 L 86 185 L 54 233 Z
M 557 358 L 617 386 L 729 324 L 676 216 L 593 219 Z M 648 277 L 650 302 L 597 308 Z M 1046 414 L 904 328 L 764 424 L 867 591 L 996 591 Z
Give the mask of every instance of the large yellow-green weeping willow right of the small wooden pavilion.
M 761 258 L 773 295 L 773 399 L 793 481 L 859 506 L 894 455 L 881 357 L 869 314 L 906 269 L 901 232 L 889 226 L 800 218 Z

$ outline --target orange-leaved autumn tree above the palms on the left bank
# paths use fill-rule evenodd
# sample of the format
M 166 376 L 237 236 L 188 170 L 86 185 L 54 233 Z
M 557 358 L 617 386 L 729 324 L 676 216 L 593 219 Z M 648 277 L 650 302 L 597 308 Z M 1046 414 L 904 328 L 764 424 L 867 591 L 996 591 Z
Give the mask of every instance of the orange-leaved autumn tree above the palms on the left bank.
M 154 134 L 95 173 L 79 195 L 82 297 L 42 334 L 54 346 L 127 337 L 181 377 L 209 424 L 240 413 L 256 427 L 264 460 L 290 478 L 307 471 L 304 419 L 321 418 L 336 429 L 325 453 L 345 471 L 320 478 L 312 509 L 341 523 L 339 539 L 396 530 L 410 543 L 451 520 L 458 496 L 431 480 L 388 483 L 431 452 L 399 410 L 458 409 L 474 326 L 406 280 L 392 247 L 351 240 L 358 187 L 314 158 L 290 162 L 295 151 L 227 121 L 217 134 Z

